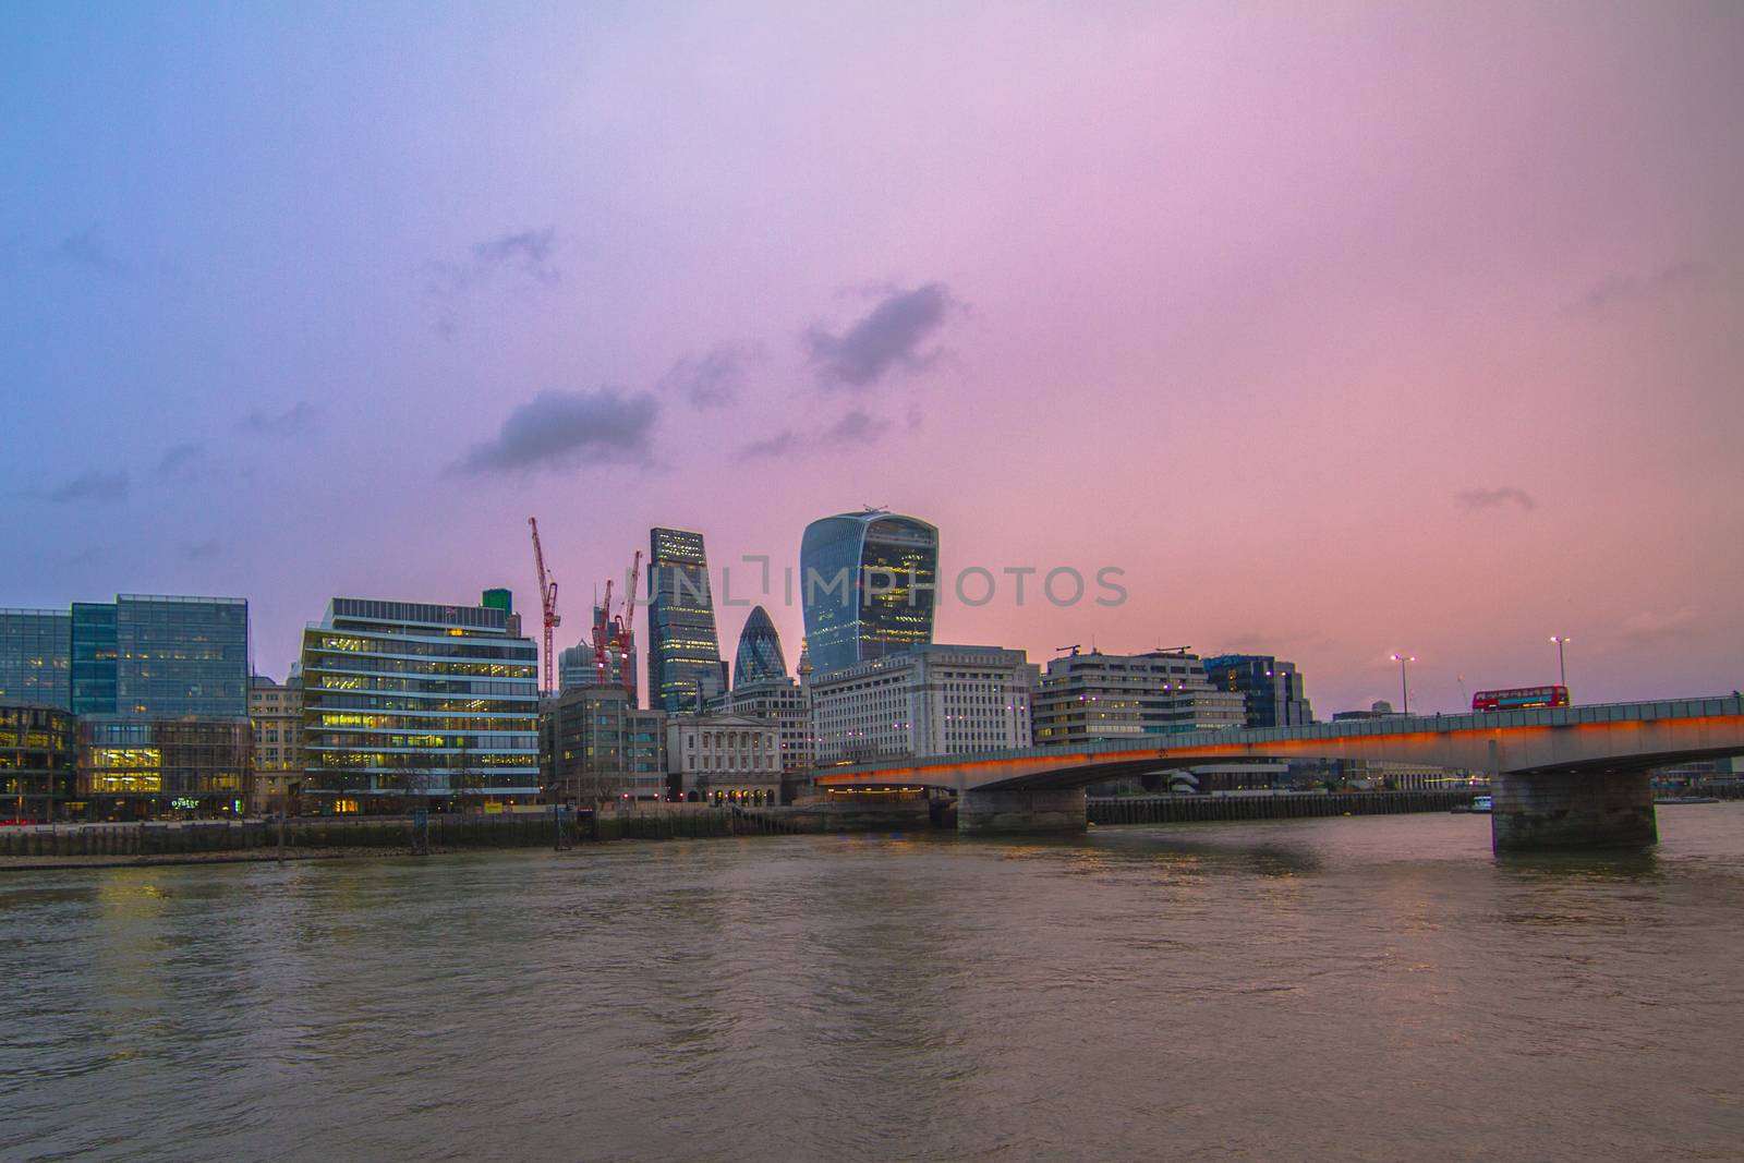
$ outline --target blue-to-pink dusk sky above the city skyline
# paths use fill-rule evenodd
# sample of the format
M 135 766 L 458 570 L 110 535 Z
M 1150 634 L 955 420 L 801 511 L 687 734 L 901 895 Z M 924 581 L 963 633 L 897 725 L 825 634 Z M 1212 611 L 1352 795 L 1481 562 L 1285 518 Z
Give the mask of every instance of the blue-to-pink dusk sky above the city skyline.
M 800 532 L 881 506 L 998 582 L 940 642 L 1732 690 L 1741 56 L 1723 2 L 7 3 L 0 605 L 242 596 L 283 678 L 335 595 L 537 605 L 537 516 L 569 645 L 670 525 L 794 661 Z

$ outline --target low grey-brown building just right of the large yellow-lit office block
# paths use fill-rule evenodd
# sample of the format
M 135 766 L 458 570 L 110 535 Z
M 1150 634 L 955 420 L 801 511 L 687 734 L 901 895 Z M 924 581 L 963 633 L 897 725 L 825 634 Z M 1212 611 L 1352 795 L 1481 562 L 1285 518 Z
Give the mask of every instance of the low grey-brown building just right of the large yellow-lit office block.
M 637 708 L 623 687 L 576 687 L 546 699 L 539 731 L 553 802 L 666 799 L 666 711 Z

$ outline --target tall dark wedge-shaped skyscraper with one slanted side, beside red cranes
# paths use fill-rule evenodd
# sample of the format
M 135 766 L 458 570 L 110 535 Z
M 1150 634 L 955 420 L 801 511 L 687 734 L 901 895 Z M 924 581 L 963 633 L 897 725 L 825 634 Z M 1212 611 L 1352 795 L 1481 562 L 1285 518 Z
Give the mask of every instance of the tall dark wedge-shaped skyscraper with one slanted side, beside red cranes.
M 696 711 L 727 689 L 703 535 L 649 530 L 649 706 Z

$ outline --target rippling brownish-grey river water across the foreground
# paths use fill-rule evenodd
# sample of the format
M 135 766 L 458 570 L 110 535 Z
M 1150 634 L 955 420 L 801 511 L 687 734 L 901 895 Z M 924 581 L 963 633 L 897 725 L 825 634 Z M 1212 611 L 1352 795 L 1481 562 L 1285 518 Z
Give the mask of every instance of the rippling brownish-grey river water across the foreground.
M 0 875 L 0 1158 L 1744 1154 L 1744 806 Z

